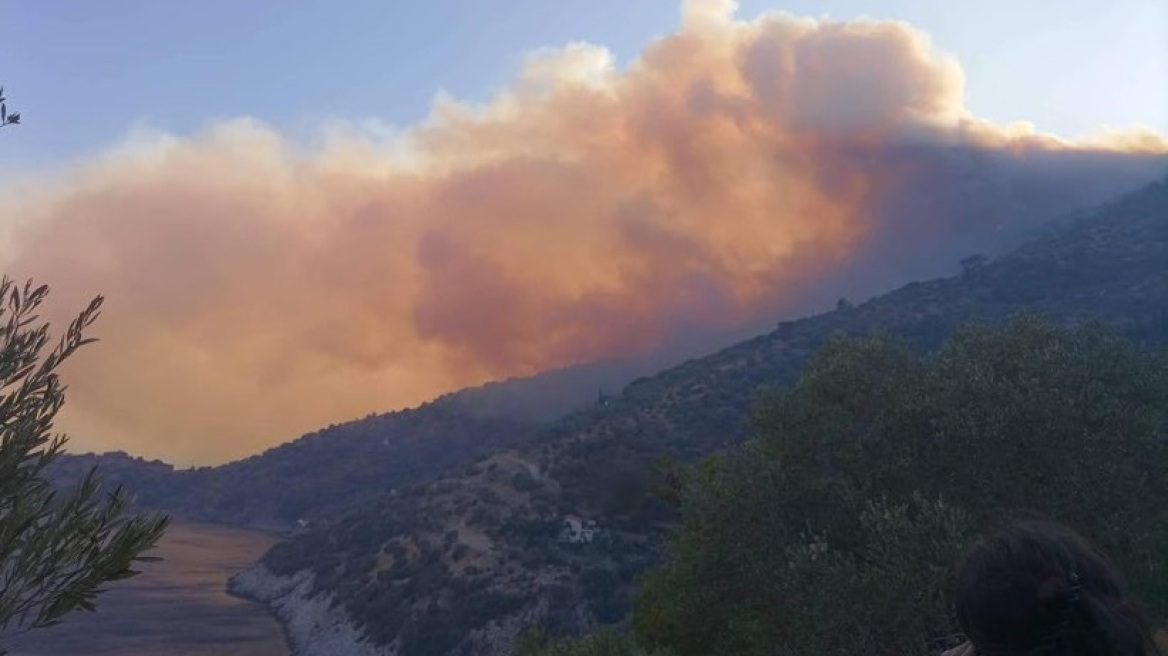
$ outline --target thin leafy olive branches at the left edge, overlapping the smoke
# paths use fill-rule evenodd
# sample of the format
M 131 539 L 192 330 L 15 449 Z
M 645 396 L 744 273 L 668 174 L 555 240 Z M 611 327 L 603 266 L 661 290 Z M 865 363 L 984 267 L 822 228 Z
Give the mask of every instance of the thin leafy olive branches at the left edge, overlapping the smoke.
M 53 433 L 65 392 L 57 369 L 95 341 L 83 333 L 102 305 L 95 299 L 54 344 L 36 315 L 47 294 L 0 281 L 0 638 L 93 610 L 102 586 L 135 574 L 167 524 L 131 512 L 126 493 L 103 490 L 93 470 L 70 494 L 46 477 L 65 444 Z

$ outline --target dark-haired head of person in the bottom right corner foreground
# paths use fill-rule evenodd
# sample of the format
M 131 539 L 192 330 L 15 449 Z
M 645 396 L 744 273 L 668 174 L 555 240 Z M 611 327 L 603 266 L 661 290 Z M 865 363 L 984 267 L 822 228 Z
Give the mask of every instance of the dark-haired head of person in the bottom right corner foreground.
M 957 616 L 978 656 L 1159 654 L 1119 570 L 1054 522 L 979 539 L 958 568 Z

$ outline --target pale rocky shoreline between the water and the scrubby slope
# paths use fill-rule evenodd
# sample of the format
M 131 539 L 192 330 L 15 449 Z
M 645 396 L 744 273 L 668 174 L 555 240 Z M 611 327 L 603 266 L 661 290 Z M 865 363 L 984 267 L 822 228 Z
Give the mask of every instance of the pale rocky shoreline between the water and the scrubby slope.
M 312 573 L 272 573 L 264 565 L 228 581 L 231 594 L 266 606 L 284 624 L 292 656 L 397 656 L 371 644 L 332 594 L 315 592 Z

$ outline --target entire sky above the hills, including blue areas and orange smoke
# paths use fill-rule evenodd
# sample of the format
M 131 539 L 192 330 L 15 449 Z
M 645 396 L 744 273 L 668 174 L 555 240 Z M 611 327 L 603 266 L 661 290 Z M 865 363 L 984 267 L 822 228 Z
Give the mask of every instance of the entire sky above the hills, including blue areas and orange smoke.
M 1168 170 L 1162 0 L 856 5 L 0 0 L 0 270 L 107 298 L 60 426 L 222 462 L 724 346 Z

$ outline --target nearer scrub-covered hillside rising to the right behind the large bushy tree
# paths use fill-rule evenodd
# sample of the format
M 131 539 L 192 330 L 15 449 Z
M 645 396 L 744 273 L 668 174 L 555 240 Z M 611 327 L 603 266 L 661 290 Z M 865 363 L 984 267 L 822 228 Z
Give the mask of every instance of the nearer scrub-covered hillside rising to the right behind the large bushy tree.
M 833 333 L 887 332 L 927 351 L 971 320 L 996 323 L 1030 308 L 1061 323 L 1101 319 L 1139 348 L 1162 347 L 1166 263 L 1168 180 L 995 261 L 966 260 L 961 275 L 843 302 L 639 381 L 458 475 L 278 545 L 265 563 L 312 570 L 375 641 L 411 656 L 506 643 L 535 619 L 551 631 L 619 621 L 674 517 L 654 494 L 654 462 L 741 442 L 759 390 L 792 383 Z M 909 512 L 898 508 L 887 510 Z M 602 537 L 557 542 L 569 512 L 598 518 Z

